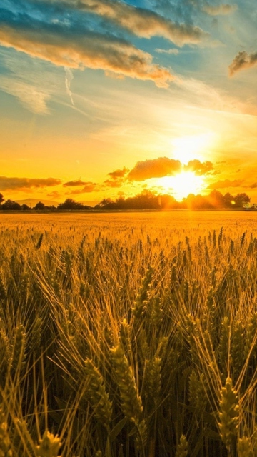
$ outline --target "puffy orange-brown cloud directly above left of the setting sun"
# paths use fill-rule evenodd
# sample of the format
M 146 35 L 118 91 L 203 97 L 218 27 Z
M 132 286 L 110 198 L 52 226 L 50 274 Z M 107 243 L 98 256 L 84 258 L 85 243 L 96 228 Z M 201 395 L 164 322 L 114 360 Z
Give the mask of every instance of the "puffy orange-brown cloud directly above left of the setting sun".
M 144 181 L 145 179 L 171 176 L 178 171 L 181 171 L 181 161 L 159 157 L 158 159 L 137 162 L 129 172 L 128 179 L 129 181 Z

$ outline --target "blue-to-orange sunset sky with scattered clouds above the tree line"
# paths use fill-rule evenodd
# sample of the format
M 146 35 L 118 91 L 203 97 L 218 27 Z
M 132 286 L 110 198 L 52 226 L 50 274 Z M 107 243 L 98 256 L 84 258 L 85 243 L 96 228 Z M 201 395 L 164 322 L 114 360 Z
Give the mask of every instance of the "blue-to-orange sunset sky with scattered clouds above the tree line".
M 1 194 L 257 202 L 256 25 L 253 0 L 1 0 Z

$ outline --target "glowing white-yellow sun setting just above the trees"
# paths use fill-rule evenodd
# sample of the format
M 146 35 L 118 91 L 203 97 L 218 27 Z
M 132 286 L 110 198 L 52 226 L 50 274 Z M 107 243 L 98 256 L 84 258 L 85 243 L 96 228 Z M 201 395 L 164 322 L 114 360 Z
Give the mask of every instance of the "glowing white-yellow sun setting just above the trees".
M 181 171 L 175 176 L 165 176 L 158 179 L 158 185 L 172 194 L 177 201 L 183 200 L 188 194 L 201 194 L 206 187 L 203 176 L 196 176 L 193 171 Z

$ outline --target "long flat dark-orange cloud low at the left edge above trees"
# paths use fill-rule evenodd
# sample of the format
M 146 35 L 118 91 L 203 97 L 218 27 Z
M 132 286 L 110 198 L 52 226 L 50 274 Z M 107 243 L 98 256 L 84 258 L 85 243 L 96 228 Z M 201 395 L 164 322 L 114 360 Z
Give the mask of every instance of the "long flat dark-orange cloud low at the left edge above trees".
M 44 188 L 59 186 L 61 179 L 56 178 L 9 178 L 0 176 L 0 191 L 16 190 L 21 191 L 31 188 Z

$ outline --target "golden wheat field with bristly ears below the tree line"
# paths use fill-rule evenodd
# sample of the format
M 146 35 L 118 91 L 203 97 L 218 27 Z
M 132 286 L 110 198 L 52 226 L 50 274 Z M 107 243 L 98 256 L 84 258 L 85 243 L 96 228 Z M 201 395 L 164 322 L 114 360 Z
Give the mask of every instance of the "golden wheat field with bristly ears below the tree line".
M 256 213 L 0 218 L 0 457 L 257 456 Z

